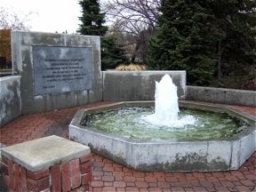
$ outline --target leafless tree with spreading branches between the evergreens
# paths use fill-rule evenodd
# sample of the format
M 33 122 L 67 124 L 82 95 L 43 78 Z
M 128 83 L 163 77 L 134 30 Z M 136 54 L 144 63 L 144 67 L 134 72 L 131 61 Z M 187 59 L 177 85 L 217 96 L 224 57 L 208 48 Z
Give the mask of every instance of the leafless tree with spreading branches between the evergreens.
M 118 28 L 119 32 L 133 36 L 129 42 L 123 42 L 130 49 L 131 45 L 133 47 L 130 52 L 132 62 L 136 58 L 146 62 L 146 44 L 148 37 L 156 31 L 159 5 L 160 0 L 108 0 L 103 4 L 108 19 L 113 23 L 113 31 Z

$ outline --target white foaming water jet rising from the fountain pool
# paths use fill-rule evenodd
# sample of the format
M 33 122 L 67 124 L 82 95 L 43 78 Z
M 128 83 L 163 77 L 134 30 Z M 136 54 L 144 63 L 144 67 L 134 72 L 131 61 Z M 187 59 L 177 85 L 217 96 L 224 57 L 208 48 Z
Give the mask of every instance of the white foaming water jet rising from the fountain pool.
M 164 75 L 161 81 L 156 82 L 155 92 L 155 113 L 149 116 L 142 116 L 149 124 L 183 127 L 186 124 L 194 124 L 196 119 L 193 116 L 183 116 L 179 119 L 179 103 L 177 86 L 172 83 L 169 75 Z

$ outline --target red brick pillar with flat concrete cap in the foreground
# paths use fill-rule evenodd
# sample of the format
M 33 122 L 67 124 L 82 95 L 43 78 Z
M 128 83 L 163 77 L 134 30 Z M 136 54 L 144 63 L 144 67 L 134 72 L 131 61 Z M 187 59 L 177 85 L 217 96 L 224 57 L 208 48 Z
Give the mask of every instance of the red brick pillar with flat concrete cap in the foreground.
M 4 184 L 9 191 L 89 190 L 89 147 L 58 136 L 30 140 L 2 149 Z

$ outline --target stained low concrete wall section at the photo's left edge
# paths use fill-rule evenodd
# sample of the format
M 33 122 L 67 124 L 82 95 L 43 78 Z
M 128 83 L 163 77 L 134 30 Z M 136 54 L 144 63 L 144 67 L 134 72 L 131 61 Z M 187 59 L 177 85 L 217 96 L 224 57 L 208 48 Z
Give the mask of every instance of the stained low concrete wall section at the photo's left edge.
M 0 127 L 21 114 L 20 76 L 0 78 Z

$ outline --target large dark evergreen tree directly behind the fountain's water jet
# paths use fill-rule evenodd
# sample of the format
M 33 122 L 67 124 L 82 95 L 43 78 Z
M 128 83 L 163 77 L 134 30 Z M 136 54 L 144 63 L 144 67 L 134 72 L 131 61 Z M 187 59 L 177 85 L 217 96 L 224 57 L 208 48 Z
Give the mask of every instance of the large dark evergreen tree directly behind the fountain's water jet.
M 211 83 L 216 63 L 214 39 L 219 34 L 211 25 L 212 12 L 202 2 L 162 1 L 160 30 L 149 42 L 151 68 L 186 70 L 188 84 Z

